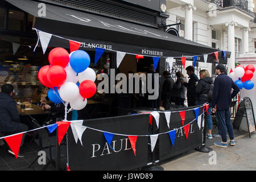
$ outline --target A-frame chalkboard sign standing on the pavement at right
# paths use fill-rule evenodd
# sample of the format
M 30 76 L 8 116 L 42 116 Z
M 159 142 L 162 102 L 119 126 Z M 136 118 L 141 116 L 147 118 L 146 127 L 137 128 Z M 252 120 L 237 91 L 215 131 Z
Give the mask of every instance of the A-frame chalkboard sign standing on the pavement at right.
M 239 129 L 242 122 L 242 118 L 244 117 L 243 115 L 246 115 L 248 132 L 249 136 L 251 137 L 250 133 L 256 130 L 256 124 L 253 111 L 253 104 L 251 103 L 249 97 L 243 98 L 243 100 L 239 104 L 236 118 L 234 119 L 233 122 L 234 129 Z

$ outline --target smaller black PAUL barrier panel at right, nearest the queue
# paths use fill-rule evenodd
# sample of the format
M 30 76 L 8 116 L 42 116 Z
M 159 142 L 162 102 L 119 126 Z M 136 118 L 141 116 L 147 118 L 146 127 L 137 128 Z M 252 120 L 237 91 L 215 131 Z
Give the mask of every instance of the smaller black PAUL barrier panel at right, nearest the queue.
M 180 110 L 187 110 L 185 112 L 184 126 L 196 118 L 195 112 L 193 110 L 188 110 L 191 108 L 196 108 L 196 107 L 187 107 L 187 108 L 180 109 Z M 200 107 L 199 115 L 201 115 L 202 113 L 203 113 L 203 107 Z M 202 122 L 204 122 L 203 115 L 202 115 Z M 188 139 L 186 139 L 185 137 L 184 127 L 182 128 L 180 127 L 182 127 L 182 121 L 181 121 L 179 112 L 171 113 L 170 129 L 167 126 L 164 113 L 160 113 L 159 133 L 164 133 L 173 129 L 177 129 L 176 135 L 175 135 L 174 147 L 172 146 L 171 139 L 168 133 L 159 135 L 159 160 L 160 161 L 171 158 L 172 156 L 181 154 L 182 152 L 194 149 L 202 145 L 203 131 L 202 131 L 202 127 L 201 127 L 201 130 L 199 130 L 196 119 L 189 126 Z

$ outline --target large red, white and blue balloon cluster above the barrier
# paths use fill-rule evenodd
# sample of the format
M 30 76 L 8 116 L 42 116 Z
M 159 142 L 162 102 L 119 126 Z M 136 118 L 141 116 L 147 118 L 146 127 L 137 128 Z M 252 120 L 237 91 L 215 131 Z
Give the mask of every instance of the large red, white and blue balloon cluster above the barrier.
M 94 96 L 97 87 L 96 73 L 89 68 L 90 56 L 78 50 L 70 55 L 64 48 L 54 48 L 49 52 L 49 64 L 38 72 L 39 81 L 47 86 L 48 98 L 53 103 L 69 102 L 72 109 L 81 110 L 87 98 Z

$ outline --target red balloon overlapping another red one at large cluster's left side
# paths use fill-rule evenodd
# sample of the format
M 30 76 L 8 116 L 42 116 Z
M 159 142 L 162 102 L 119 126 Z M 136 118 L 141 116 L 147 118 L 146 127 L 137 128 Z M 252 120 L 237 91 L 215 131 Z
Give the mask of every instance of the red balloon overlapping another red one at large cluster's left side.
M 67 72 L 59 65 L 52 66 L 47 72 L 47 78 L 53 86 L 61 86 L 67 79 Z

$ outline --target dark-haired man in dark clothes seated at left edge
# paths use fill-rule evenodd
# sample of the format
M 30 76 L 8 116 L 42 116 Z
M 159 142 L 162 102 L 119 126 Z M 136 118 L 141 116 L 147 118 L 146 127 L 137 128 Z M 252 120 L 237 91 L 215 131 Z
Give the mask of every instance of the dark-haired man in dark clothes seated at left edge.
M 23 123 L 20 123 L 16 102 L 12 97 L 14 86 L 11 84 L 4 84 L 1 89 L 2 92 L 0 93 L 0 132 L 6 136 L 27 131 L 28 127 Z M 25 136 L 26 134 L 24 133 L 20 147 L 22 147 L 23 145 Z M 13 151 L 8 150 L 8 152 L 14 155 Z M 23 157 L 23 155 L 18 154 L 18 157 Z

